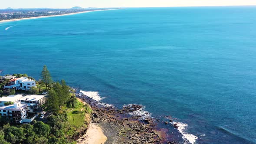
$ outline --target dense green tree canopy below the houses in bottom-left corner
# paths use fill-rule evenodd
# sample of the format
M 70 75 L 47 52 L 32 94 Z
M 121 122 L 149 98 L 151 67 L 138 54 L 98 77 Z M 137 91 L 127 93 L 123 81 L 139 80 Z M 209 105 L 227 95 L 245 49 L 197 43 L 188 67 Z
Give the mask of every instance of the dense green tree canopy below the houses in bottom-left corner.
M 41 121 L 34 125 L 3 125 L 0 129 L 0 144 L 72 144 L 68 131 L 71 125 L 67 115 L 52 115 L 48 124 Z

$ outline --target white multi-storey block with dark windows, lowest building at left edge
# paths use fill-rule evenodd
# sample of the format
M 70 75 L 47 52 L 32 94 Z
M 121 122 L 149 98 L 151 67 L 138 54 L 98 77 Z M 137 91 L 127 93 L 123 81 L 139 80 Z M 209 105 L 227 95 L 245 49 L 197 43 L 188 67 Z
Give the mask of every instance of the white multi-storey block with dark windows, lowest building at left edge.
M 6 116 L 13 122 L 20 123 L 22 119 L 27 117 L 26 109 L 26 104 L 21 104 L 20 101 L 16 101 L 13 105 L 0 107 L 0 116 Z

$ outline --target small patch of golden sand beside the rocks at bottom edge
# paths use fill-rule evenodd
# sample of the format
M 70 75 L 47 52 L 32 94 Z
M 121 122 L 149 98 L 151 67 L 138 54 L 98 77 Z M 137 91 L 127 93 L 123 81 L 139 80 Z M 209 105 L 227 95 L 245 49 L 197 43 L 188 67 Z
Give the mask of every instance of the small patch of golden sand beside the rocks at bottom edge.
M 79 138 L 78 144 L 104 144 L 107 137 L 97 124 L 90 123 L 85 135 Z

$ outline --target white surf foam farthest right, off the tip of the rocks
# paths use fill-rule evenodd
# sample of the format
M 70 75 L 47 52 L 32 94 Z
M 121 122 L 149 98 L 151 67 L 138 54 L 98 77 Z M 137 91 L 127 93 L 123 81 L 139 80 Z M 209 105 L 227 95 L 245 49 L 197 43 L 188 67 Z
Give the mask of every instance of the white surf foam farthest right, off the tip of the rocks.
M 187 124 L 181 123 L 181 122 L 172 122 L 172 124 L 177 124 L 177 129 L 182 134 L 182 138 L 185 140 L 184 144 L 188 144 L 186 141 L 189 141 L 190 144 L 194 144 L 197 140 L 197 136 L 193 134 L 187 134 L 184 130 L 187 127 Z

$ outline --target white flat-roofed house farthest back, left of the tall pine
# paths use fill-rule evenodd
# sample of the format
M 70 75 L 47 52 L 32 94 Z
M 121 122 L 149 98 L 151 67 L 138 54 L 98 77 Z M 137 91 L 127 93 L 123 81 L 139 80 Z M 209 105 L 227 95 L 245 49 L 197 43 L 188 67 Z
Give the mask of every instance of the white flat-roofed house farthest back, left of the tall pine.
M 21 77 L 18 79 L 10 80 L 9 85 L 5 85 L 5 89 L 17 89 L 17 90 L 29 90 L 31 87 L 36 87 L 36 82 L 33 79 L 28 79 L 26 77 Z

